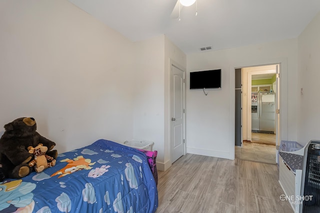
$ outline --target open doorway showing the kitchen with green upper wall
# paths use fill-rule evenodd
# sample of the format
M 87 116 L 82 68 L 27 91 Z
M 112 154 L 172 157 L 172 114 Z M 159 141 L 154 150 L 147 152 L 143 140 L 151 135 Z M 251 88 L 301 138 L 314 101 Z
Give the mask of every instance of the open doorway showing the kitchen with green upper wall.
M 235 76 L 235 158 L 275 164 L 279 64 L 238 68 Z

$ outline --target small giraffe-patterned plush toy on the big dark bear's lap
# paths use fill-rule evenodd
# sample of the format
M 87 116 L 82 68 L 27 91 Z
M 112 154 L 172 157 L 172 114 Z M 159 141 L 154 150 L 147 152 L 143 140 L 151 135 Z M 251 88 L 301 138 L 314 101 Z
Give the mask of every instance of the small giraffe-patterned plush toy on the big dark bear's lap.
M 48 150 L 47 147 L 43 147 L 42 144 L 39 144 L 36 147 L 28 147 L 29 153 L 33 154 L 34 159 L 28 163 L 29 167 L 33 167 L 34 171 L 37 173 L 42 172 L 48 167 L 53 167 L 55 165 L 55 160 L 45 155 Z M 49 161 L 49 162 L 48 162 Z

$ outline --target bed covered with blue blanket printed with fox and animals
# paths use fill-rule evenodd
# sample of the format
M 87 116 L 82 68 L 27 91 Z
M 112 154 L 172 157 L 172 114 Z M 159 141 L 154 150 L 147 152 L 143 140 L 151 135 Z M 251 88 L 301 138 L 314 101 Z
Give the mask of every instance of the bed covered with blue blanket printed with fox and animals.
M 154 213 L 156 168 L 152 173 L 148 160 L 144 152 L 98 140 L 59 154 L 41 173 L 0 183 L 0 213 Z

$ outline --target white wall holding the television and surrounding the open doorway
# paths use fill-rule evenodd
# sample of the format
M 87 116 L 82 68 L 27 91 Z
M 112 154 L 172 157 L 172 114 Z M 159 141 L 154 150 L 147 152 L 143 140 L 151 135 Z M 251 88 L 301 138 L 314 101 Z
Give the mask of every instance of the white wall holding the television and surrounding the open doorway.
M 297 39 L 187 55 L 190 71 L 222 69 L 221 89 L 186 91 L 187 152 L 234 158 L 234 68 L 280 63 L 282 140 L 296 140 Z M 189 87 L 187 81 L 187 88 Z

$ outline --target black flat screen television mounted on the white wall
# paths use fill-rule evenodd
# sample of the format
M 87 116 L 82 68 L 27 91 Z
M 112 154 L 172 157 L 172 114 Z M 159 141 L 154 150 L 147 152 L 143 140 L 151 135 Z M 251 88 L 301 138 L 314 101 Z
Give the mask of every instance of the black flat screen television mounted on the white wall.
M 221 69 L 190 72 L 190 89 L 221 88 Z

